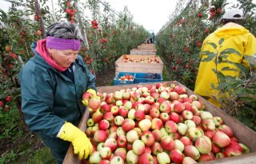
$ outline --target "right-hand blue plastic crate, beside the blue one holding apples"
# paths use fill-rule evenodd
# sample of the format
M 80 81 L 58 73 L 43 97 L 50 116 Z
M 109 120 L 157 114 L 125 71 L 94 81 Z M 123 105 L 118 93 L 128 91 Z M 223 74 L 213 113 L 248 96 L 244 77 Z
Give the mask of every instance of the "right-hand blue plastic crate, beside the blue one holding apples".
M 162 82 L 162 75 L 152 74 L 152 73 L 136 73 L 135 74 L 134 84 L 150 83 L 150 82 Z

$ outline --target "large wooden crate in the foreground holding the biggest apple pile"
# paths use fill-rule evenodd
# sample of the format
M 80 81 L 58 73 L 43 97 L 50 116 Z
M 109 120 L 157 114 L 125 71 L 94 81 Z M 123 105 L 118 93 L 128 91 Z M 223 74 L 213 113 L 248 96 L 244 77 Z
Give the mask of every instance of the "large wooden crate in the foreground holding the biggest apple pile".
M 161 82 L 163 84 L 170 84 L 174 83 L 178 86 L 183 86 L 179 82 L 171 81 L 171 82 Z M 149 86 L 150 84 L 156 84 L 156 83 L 145 83 L 145 84 L 139 84 L 140 86 Z M 132 88 L 134 86 L 138 86 L 138 84 L 133 85 L 123 85 L 123 86 L 102 86 L 98 87 L 98 92 L 101 93 L 114 93 L 116 90 L 121 89 L 127 89 Z M 183 86 L 186 87 L 186 86 Z M 192 90 L 187 89 L 187 94 L 194 94 Z M 214 116 L 219 116 L 223 119 L 225 124 L 227 126 L 230 126 L 234 130 L 234 136 L 238 138 L 239 142 L 242 142 L 246 144 L 246 146 L 249 146 L 250 148 L 250 154 L 243 154 L 235 157 L 230 158 L 222 158 L 222 159 L 216 159 L 214 161 L 210 162 L 202 162 L 205 164 L 219 164 L 219 163 L 226 163 L 226 164 L 253 164 L 256 163 L 256 132 L 254 130 L 251 130 L 249 127 L 242 124 L 242 122 L 238 122 L 238 120 L 230 117 L 228 114 L 223 112 L 222 110 L 218 109 L 216 106 L 212 105 L 210 102 L 206 101 L 204 98 L 198 95 L 199 100 L 202 100 L 206 106 L 206 110 L 210 111 Z M 86 110 L 85 113 L 82 116 L 82 119 L 79 123 L 79 128 L 82 131 L 86 130 L 86 121 L 89 118 L 89 110 Z M 73 146 L 70 144 L 70 148 L 66 153 L 66 157 L 64 159 L 64 164 L 78 164 L 81 163 L 81 161 L 78 159 L 78 155 L 74 155 L 74 149 Z M 83 161 L 82 163 L 89 163 L 86 161 Z

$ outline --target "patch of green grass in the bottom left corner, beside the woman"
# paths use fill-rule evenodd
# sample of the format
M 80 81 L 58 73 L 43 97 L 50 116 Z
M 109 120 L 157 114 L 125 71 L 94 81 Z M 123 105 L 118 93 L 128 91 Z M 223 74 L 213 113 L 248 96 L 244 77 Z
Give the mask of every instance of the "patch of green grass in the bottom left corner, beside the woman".
M 0 110 L 0 139 L 2 152 L 0 164 L 4 163 L 50 163 L 54 164 L 54 156 L 50 149 L 42 146 L 38 135 L 24 130 L 18 110 L 13 107 L 9 111 Z

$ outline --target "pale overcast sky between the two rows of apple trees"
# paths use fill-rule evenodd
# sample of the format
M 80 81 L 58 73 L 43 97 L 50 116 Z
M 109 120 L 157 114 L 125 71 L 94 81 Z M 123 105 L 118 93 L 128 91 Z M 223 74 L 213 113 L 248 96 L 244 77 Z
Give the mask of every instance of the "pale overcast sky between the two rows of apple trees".
M 124 6 L 128 7 L 134 15 L 134 22 L 144 26 L 146 30 L 158 31 L 166 24 L 168 17 L 175 10 L 178 0 L 107 0 L 112 9 L 122 11 Z

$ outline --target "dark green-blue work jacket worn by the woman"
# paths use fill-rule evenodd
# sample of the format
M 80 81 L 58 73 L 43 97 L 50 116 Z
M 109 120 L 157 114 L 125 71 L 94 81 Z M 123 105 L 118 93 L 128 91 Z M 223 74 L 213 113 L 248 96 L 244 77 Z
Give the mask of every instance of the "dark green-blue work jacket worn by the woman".
M 50 66 L 40 54 L 31 49 L 30 58 L 22 68 L 19 79 L 22 89 L 22 112 L 30 130 L 38 132 L 58 162 L 62 162 L 70 142 L 57 138 L 65 121 L 78 126 L 85 106 L 82 94 L 95 88 L 95 77 L 78 55 L 74 62 L 74 82 Z

